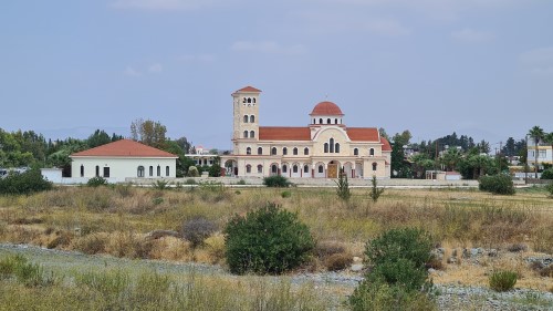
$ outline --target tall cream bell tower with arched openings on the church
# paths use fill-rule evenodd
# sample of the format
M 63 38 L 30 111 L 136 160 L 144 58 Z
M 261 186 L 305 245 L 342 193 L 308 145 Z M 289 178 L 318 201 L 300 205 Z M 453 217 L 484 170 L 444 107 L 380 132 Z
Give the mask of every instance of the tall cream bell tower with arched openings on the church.
M 232 93 L 232 141 L 257 142 L 259 139 L 259 94 L 260 90 L 246 86 Z

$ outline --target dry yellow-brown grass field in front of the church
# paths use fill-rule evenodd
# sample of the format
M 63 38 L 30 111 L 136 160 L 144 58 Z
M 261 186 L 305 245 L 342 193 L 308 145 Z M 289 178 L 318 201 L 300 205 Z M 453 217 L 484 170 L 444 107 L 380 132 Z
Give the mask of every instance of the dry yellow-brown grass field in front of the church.
M 528 257 L 553 253 L 553 199 L 530 188 L 514 196 L 476 189 L 386 189 L 373 204 L 367 189 L 353 189 L 349 203 L 334 188 L 225 188 L 159 190 L 129 185 L 58 187 L 31 196 L 0 197 L 0 241 L 85 253 L 225 265 L 225 240 L 213 234 L 198 247 L 178 237 L 152 238 L 154 230 L 181 231 L 204 217 L 221 230 L 234 214 L 273 201 L 298 212 L 317 241 L 306 271 L 324 271 L 332 255 L 363 257 L 364 243 L 388 228 L 424 228 L 442 258 L 434 262 L 435 283 L 487 286 L 497 268 L 519 273 L 517 287 L 553 291 L 552 276 L 540 276 Z M 478 258 L 463 249 L 481 248 Z M 497 250 L 497 256 L 486 255 Z M 458 253 L 451 263 L 448 259 Z

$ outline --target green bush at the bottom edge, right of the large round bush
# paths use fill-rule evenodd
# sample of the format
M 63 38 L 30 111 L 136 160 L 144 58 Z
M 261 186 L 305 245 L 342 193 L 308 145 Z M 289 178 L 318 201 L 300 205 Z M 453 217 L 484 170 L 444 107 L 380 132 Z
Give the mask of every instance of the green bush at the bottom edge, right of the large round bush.
M 418 229 L 392 229 L 368 241 L 372 270 L 349 297 L 353 310 L 436 310 L 428 296 L 431 281 L 425 263 L 431 258 L 429 236 Z

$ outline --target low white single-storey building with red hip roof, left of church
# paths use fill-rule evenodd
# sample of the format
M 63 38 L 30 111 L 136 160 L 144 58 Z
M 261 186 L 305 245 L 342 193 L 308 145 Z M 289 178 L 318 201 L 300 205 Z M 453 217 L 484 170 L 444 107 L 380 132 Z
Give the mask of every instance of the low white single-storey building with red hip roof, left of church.
M 73 178 L 101 176 L 111 183 L 126 178 L 174 178 L 178 156 L 134 142 L 121 139 L 71 156 Z

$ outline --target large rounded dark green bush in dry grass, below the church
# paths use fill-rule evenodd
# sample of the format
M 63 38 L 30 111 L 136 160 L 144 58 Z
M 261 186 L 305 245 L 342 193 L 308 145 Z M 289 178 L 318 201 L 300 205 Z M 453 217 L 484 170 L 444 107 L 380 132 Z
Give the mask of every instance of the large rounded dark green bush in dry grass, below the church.
M 234 216 L 225 228 L 232 273 L 282 273 L 303 263 L 314 247 L 307 226 L 275 204 Z

